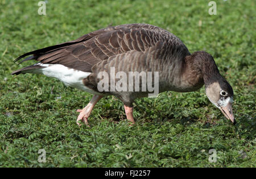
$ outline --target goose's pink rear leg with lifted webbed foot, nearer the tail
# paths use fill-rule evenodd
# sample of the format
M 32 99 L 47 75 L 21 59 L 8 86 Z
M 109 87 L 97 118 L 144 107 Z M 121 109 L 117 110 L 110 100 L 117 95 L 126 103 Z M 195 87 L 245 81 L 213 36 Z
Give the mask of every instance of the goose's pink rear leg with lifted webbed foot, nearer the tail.
M 90 102 L 88 103 L 87 106 L 84 107 L 84 109 L 82 110 L 76 110 L 77 112 L 79 112 L 79 116 L 76 120 L 76 123 L 81 126 L 81 124 L 79 123 L 79 120 L 82 120 L 82 122 L 84 122 L 87 126 L 89 126 L 88 124 L 88 118 L 90 116 L 90 113 L 92 113 L 93 107 L 96 105 L 96 103 L 102 98 L 102 95 L 94 95 L 92 97 L 92 99 L 90 100 Z

